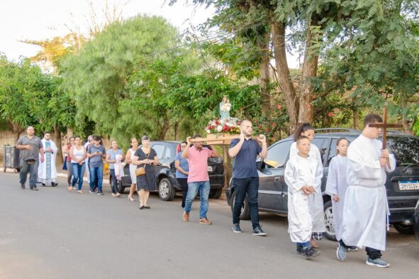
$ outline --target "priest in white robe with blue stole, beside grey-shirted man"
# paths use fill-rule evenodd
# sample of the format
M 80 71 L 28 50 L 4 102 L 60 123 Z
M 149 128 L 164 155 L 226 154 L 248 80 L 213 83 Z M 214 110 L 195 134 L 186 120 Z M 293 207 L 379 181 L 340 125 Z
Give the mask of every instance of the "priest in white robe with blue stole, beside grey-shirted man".
M 57 145 L 54 141 L 51 141 L 51 133 L 45 132 L 42 140 L 44 146 L 44 158 L 43 163 L 39 164 L 38 168 L 38 183 L 51 184 L 52 186 L 57 185 L 57 167 L 55 166 L 55 160 L 57 158 Z

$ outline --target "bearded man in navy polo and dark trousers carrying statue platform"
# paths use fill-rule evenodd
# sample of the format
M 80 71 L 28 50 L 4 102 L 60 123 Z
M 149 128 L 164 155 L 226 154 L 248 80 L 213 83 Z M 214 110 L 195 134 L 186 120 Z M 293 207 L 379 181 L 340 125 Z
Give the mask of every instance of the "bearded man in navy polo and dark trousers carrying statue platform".
M 259 143 L 262 143 L 262 148 Z M 233 139 L 228 150 L 233 160 L 233 187 L 235 189 L 235 203 L 233 209 L 233 231 L 241 233 L 240 209 L 247 194 L 250 219 L 252 219 L 253 235 L 266 236 L 259 225 L 259 209 L 257 207 L 257 190 L 259 189 L 259 175 L 257 175 L 256 158 L 267 158 L 267 141 L 264 135 L 259 135 L 257 141 L 252 139 L 252 122 L 242 121 L 240 124 L 240 138 Z

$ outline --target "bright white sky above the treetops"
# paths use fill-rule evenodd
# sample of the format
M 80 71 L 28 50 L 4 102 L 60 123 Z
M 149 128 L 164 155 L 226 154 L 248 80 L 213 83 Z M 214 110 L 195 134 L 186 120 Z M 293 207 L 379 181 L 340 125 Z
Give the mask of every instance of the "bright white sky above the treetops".
M 20 40 L 45 40 L 69 33 L 70 26 L 87 31 L 87 17 L 91 14 L 89 1 L 103 19 L 106 2 L 109 6 L 123 6 L 123 17 L 138 14 L 157 15 L 184 31 L 189 26 L 198 26 L 211 18 L 212 7 L 194 6 L 187 0 L 178 0 L 174 6 L 168 0 L 0 0 L 0 53 L 9 60 L 34 56 L 40 48 L 21 43 Z M 297 67 L 295 58 L 289 57 L 289 67 Z

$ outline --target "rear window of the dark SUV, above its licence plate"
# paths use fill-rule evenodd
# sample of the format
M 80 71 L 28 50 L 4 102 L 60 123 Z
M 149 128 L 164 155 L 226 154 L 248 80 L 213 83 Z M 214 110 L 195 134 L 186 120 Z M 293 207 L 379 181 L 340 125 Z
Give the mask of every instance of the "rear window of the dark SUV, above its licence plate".
M 386 146 L 396 156 L 397 165 L 419 164 L 419 138 L 389 136 Z

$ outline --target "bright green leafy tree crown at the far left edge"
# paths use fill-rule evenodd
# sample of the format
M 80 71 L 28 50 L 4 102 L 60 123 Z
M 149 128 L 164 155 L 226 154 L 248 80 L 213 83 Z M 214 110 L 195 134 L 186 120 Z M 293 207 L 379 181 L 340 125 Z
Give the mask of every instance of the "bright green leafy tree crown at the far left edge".
M 35 126 L 37 132 L 74 125 L 76 107 L 61 89 L 61 79 L 44 74 L 29 60 L 0 58 L 0 114 L 10 124 Z

